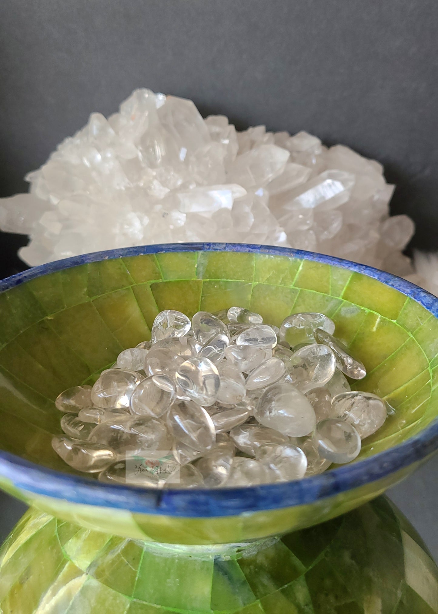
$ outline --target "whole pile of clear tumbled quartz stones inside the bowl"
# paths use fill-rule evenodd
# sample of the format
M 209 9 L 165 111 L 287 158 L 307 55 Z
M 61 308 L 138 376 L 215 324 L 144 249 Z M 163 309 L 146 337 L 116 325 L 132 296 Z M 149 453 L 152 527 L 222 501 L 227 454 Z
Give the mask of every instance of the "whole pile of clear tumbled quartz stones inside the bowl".
M 93 387 L 59 395 L 65 434 L 53 448 L 101 481 L 155 488 L 299 480 L 352 461 L 387 410 L 350 389 L 347 377 L 366 370 L 334 332 L 320 313 L 277 328 L 240 307 L 191 321 L 162 311 L 151 341 L 121 352 Z M 167 456 L 174 469 L 153 470 Z M 152 469 L 134 475 L 133 457 Z

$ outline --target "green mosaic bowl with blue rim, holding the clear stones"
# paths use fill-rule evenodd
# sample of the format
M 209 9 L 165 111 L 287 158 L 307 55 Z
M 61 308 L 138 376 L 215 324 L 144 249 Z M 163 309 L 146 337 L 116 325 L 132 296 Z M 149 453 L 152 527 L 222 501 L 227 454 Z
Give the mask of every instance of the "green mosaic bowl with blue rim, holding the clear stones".
M 352 510 L 438 446 L 438 299 L 382 271 L 291 249 L 174 244 L 50 263 L 0 290 L 0 485 L 64 521 L 160 543 L 259 540 Z M 150 338 L 162 309 L 232 305 L 276 325 L 299 311 L 334 320 L 367 368 L 355 386 L 395 409 L 356 462 L 288 483 L 156 491 L 99 483 L 56 456 L 61 391 Z

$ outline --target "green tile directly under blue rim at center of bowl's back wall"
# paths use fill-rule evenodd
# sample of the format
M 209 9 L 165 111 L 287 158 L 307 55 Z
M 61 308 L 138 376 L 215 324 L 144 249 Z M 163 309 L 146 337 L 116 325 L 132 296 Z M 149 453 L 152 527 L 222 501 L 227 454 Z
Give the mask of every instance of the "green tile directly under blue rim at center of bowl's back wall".
M 199 252 L 198 279 L 253 281 L 255 255 L 244 252 Z

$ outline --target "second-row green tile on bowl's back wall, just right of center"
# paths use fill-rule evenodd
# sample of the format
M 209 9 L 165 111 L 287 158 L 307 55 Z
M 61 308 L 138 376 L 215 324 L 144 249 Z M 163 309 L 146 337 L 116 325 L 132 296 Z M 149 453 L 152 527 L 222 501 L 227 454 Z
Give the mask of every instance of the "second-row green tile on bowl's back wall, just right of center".
M 255 284 L 250 309 L 263 316 L 263 321 L 280 326 L 289 316 L 298 296 L 298 290 L 268 284 Z

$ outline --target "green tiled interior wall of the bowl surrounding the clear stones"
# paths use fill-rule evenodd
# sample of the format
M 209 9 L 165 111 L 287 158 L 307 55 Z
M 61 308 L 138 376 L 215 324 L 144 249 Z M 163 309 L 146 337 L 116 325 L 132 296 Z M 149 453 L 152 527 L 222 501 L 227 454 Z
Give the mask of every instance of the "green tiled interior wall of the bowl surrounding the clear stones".
M 359 460 L 436 418 L 438 321 L 413 298 L 411 284 L 306 252 L 155 247 L 157 253 L 55 263 L 7 281 L 0 293 L 0 449 L 74 473 L 50 445 L 61 432 L 56 396 L 94 383 L 122 349 L 148 340 L 156 314 L 169 308 L 193 316 L 239 305 L 275 325 L 300 311 L 331 317 L 336 336 L 367 368 L 353 387 L 375 392 L 395 410 L 364 440 Z M 429 297 L 431 310 L 433 303 Z

